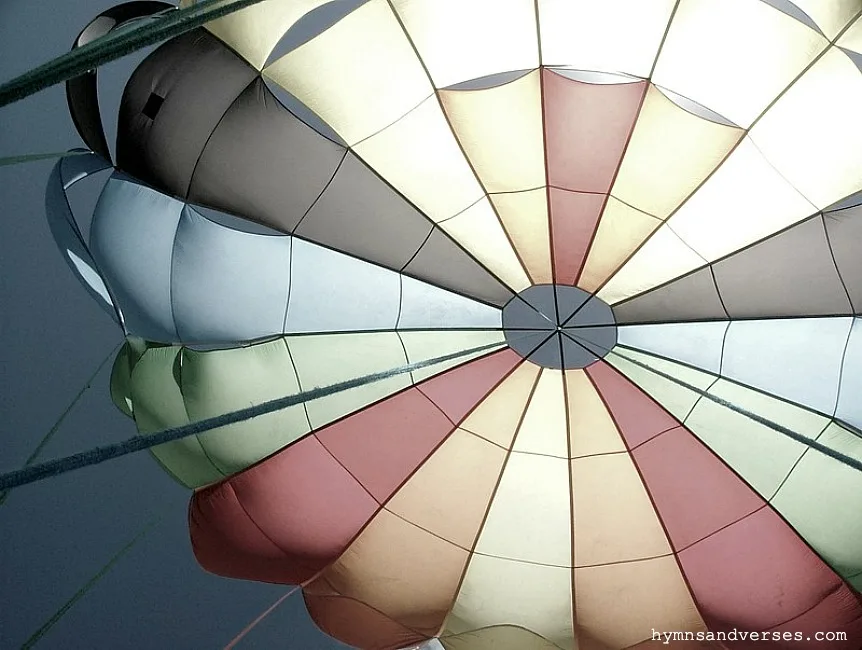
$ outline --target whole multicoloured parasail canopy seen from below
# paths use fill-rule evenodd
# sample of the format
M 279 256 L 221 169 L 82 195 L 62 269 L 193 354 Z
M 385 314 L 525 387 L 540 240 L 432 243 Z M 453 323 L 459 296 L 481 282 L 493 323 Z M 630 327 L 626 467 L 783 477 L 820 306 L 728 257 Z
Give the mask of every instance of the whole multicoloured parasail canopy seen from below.
M 359 648 L 857 649 L 860 15 L 268 0 L 135 70 L 116 161 L 70 84 L 140 431 L 463 353 L 155 448 L 198 562 Z

